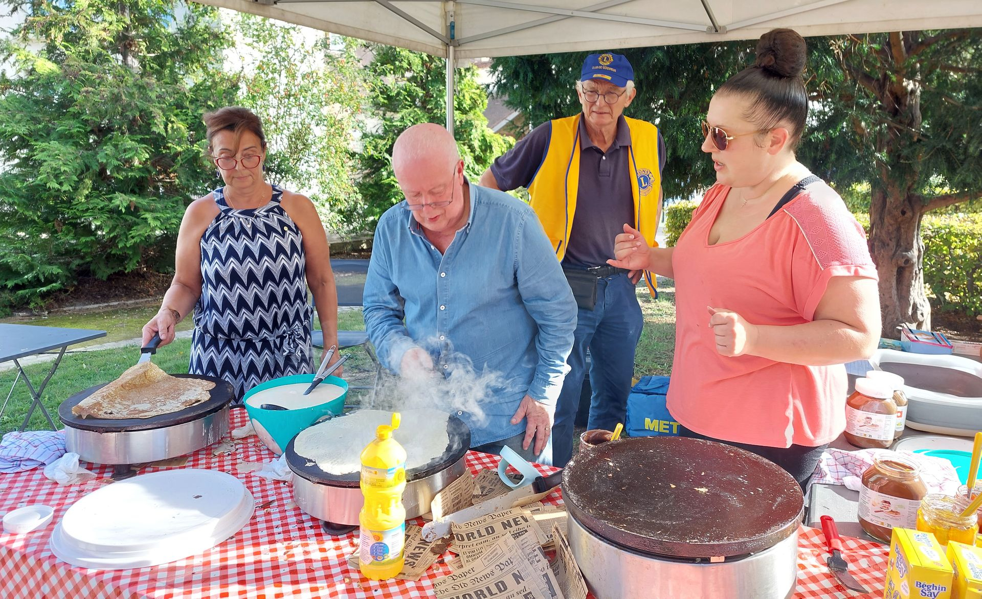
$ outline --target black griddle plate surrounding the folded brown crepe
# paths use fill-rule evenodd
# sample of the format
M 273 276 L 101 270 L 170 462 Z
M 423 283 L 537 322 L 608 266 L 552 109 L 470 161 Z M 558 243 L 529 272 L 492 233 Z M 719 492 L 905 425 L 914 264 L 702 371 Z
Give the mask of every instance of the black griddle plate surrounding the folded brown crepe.
M 163 428 L 165 426 L 175 426 L 191 422 L 210 413 L 214 413 L 221 408 L 225 408 L 233 399 L 232 385 L 222 379 L 203 374 L 174 374 L 177 378 L 193 378 L 211 381 L 215 383 L 209 391 L 207 400 L 194 406 L 189 406 L 171 413 L 158 414 L 149 418 L 82 418 L 72 412 L 72 408 L 79 405 L 82 400 L 102 389 L 109 383 L 89 387 L 65 400 L 58 407 L 58 417 L 65 424 L 79 430 L 89 430 L 97 433 L 120 433 L 136 430 L 151 430 Z

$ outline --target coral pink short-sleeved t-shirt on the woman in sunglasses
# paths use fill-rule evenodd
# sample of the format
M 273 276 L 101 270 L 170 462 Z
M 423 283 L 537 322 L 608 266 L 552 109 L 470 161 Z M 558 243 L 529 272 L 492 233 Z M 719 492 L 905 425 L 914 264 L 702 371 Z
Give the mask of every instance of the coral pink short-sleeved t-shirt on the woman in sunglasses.
M 862 228 L 836 191 L 807 186 L 743 237 L 707 242 L 729 187 L 715 185 L 673 253 L 676 349 L 668 408 L 697 433 L 816 447 L 846 428 L 846 368 L 720 355 L 707 305 L 760 325 L 810 322 L 832 277 L 876 279 Z

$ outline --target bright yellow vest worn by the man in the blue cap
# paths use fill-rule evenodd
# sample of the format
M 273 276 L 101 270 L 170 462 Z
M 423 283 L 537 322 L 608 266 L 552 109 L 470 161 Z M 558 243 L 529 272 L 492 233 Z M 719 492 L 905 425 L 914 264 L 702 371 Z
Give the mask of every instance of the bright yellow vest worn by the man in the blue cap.
M 545 158 L 528 185 L 531 196 L 529 205 L 535 210 L 546 236 L 556 249 L 560 260 L 566 255 L 566 246 L 573 229 L 576 212 L 576 191 L 579 187 L 579 119 L 573 117 L 554 119 L 551 122 L 549 145 Z M 658 228 L 658 206 L 662 187 L 658 169 L 658 128 L 646 121 L 629 119 L 630 193 L 634 198 L 634 228 L 641 232 L 652 247 L 657 247 L 655 231 Z M 613 256 L 612 256 L 613 257 Z M 644 273 L 648 290 L 655 295 L 655 278 Z

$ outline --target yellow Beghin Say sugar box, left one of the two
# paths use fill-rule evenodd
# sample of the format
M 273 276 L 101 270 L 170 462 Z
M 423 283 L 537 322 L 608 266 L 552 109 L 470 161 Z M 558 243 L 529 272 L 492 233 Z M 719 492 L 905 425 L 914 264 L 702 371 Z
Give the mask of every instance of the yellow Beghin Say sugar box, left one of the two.
M 933 534 L 894 528 L 884 599 L 951 599 L 954 575 Z

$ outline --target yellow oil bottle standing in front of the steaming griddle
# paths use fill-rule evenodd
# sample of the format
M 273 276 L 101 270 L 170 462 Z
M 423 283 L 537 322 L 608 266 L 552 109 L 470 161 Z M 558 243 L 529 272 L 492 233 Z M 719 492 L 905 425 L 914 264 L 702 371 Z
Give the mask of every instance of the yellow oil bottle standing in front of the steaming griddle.
M 379 425 L 375 439 L 361 452 L 364 506 L 358 514 L 358 554 L 362 575 L 372 580 L 396 577 L 405 560 L 406 450 L 392 438 L 399 422 L 399 412 L 392 414 L 392 424 Z

